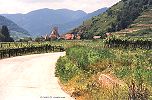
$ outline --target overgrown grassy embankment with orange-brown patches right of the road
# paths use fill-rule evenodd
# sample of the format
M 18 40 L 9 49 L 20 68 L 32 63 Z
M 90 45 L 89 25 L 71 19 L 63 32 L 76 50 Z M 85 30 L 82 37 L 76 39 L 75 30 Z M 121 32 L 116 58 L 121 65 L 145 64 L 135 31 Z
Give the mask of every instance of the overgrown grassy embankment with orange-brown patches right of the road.
M 152 51 L 73 46 L 58 60 L 56 76 L 77 100 L 147 100 L 152 96 Z

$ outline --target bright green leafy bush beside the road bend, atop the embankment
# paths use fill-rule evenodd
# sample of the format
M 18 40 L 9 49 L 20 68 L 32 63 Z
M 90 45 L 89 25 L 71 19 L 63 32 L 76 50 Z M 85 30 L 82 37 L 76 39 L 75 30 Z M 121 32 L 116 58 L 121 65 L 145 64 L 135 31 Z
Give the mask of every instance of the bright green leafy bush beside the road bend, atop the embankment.
M 86 46 L 73 46 L 67 49 L 66 54 L 70 60 L 83 70 L 88 70 L 90 64 L 94 64 L 102 59 L 115 58 L 115 55 L 107 49 L 95 49 Z

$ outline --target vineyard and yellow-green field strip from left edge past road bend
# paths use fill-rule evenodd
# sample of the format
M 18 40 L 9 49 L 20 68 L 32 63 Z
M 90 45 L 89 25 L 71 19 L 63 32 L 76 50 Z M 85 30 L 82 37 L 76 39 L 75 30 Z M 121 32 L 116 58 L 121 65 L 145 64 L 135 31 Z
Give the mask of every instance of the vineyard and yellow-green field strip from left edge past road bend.
M 0 59 L 49 52 L 60 52 L 74 45 L 101 47 L 103 42 L 94 45 L 92 41 L 50 41 L 50 42 L 1 42 Z

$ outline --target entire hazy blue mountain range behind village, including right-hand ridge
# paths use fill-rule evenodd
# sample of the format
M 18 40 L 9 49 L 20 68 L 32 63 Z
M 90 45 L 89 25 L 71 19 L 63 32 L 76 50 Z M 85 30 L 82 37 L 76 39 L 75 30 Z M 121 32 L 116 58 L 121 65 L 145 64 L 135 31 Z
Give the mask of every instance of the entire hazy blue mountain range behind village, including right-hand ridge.
M 33 36 L 45 35 L 51 31 L 54 26 L 59 27 L 60 33 L 81 25 L 84 20 L 103 13 L 107 8 L 99 9 L 93 13 L 87 14 L 84 11 L 72 11 L 68 9 L 40 9 L 27 14 L 3 14 L 19 26 L 28 30 Z

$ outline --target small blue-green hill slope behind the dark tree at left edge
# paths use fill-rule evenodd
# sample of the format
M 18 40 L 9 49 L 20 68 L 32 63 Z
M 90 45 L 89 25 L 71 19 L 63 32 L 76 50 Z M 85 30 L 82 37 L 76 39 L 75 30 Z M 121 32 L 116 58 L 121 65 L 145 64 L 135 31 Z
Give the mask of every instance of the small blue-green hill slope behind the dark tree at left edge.
M 0 16 L 0 30 L 3 25 L 8 27 L 10 35 L 13 38 L 29 36 L 28 32 L 25 29 L 19 27 L 17 24 L 7 19 L 6 17 Z

